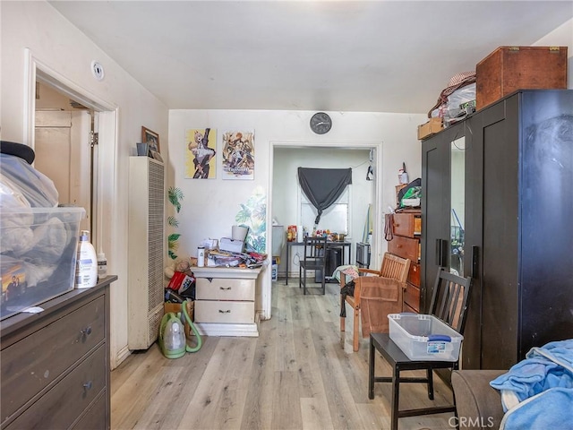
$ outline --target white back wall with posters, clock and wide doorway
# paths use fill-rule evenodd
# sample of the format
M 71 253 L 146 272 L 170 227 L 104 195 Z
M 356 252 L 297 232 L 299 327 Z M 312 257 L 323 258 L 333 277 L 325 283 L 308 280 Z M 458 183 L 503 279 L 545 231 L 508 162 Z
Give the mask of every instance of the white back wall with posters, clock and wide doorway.
M 255 189 L 267 195 L 267 223 L 270 228 L 273 201 L 272 159 L 275 147 L 339 147 L 348 142 L 356 147 L 377 149 L 379 210 L 395 206 L 395 185 L 398 184 L 398 168 L 402 162 L 410 177 L 421 175 L 421 147 L 416 133 L 417 125 L 426 121 L 423 114 L 382 114 L 329 112 L 332 129 L 324 135 L 312 133 L 308 111 L 257 111 L 257 110 L 171 110 L 169 112 L 169 171 L 168 184 L 175 185 L 184 193 L 183 209 L 178 215 L 182 234 L 179 254 L 194 255 L 203 238 L 220 238 L 230 234 L 235 224 L 235 214 L 241 203 L 246 202 Z M 222 134 L 229 131 L 255 132 L 255 174 L 252 181 L 223 180 L 218 159 L 218 176 L 215 179 L 185 179 L 184 153 L 187 146 L 185 130 L 210 127 L 217 129 L 218 153 L 222 148 Z M 277 214 L 278 217 L 281 214 Z M 374 238 L 372 264 L 380 264 L 381 253 L 386 244 L 382 240 L 383 226 L 378 224 Z M 267 237 L 270 236 L 268 229 Z M 269 241 L 268 241 L 269 246 Z M 269 248 L 268 248 L 269 252 Z M 263 310 L 263 318 L 270 313 L 270 270 L 263 271 L 258 288 L 257 306 Z

